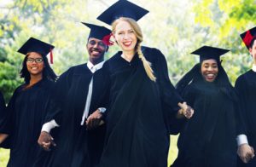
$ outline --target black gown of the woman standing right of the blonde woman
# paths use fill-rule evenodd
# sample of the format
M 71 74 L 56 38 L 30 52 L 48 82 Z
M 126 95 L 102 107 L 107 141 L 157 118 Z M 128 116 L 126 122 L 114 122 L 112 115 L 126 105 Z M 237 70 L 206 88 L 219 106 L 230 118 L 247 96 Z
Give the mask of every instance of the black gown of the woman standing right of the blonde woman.
M 174 167 L 236 166 L 236 107 L 215 83 L 191 83 L 183 98 L 195 109 L 180 132 Z

